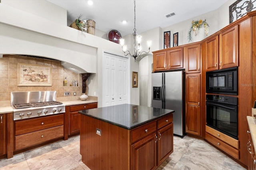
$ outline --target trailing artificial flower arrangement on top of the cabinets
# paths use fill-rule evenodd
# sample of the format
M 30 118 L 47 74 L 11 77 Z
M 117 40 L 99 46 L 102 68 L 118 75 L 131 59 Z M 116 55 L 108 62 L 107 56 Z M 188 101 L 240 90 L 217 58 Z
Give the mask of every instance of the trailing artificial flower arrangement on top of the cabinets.
M 191 37 L 191 31 L 193 31 L 195 33 L 195 36 L 198 35 L 198 31 L 199 29 L 202 27 L 202 25 L 204 25 L 204 33 L 205 35 L 207 36 L 208 35 L 208 23 L 206 22 L 206 20 L 192 20 L 192 25 L 189 29 L 189 32 L 188 32 L 188 40 L 191 41 L 192 40 L 192 37 Z M 188 41 L 188 42 L 189 42 Z

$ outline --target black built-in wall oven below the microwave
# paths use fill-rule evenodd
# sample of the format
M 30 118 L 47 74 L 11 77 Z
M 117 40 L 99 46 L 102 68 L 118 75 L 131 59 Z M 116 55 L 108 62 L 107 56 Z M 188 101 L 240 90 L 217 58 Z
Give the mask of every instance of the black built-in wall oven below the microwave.
M 238 98 L 206 95 L 206 125 L 238 140 Z

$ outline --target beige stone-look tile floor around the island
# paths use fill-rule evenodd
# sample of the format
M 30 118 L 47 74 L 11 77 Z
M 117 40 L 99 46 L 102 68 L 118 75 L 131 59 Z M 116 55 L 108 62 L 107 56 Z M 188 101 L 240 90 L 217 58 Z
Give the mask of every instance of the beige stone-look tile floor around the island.
M 90 170 L 79 154 L 80 136 L 0 160 L 0 170 Z M 174 136 L 174 152 L 158 170 L 245 170 L 205 141 Z

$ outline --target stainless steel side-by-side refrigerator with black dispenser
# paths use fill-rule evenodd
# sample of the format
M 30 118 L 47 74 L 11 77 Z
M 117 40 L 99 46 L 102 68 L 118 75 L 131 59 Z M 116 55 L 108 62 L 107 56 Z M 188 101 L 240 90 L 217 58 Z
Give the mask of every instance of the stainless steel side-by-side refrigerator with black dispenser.
M 152 73 L 152 107 L 172 109 L 173 133 L 184 136 L 184 71 Z

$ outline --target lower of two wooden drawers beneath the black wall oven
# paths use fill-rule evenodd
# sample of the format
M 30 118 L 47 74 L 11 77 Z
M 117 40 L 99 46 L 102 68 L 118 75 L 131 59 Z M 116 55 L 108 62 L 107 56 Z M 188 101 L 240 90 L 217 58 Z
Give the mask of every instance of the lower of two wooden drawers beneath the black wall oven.
M 224 152 L 230 154 L 236 159 L 239 159 L 239 151 L 234 149 L 233 147 L 230 147 L 226 143 L 222 142 L 221 140 L 217 139 L 216 137 L 213 137 L 209 133 L 205 134 L 205 139 L 215 145 L 216 147 L 220 148 Z

